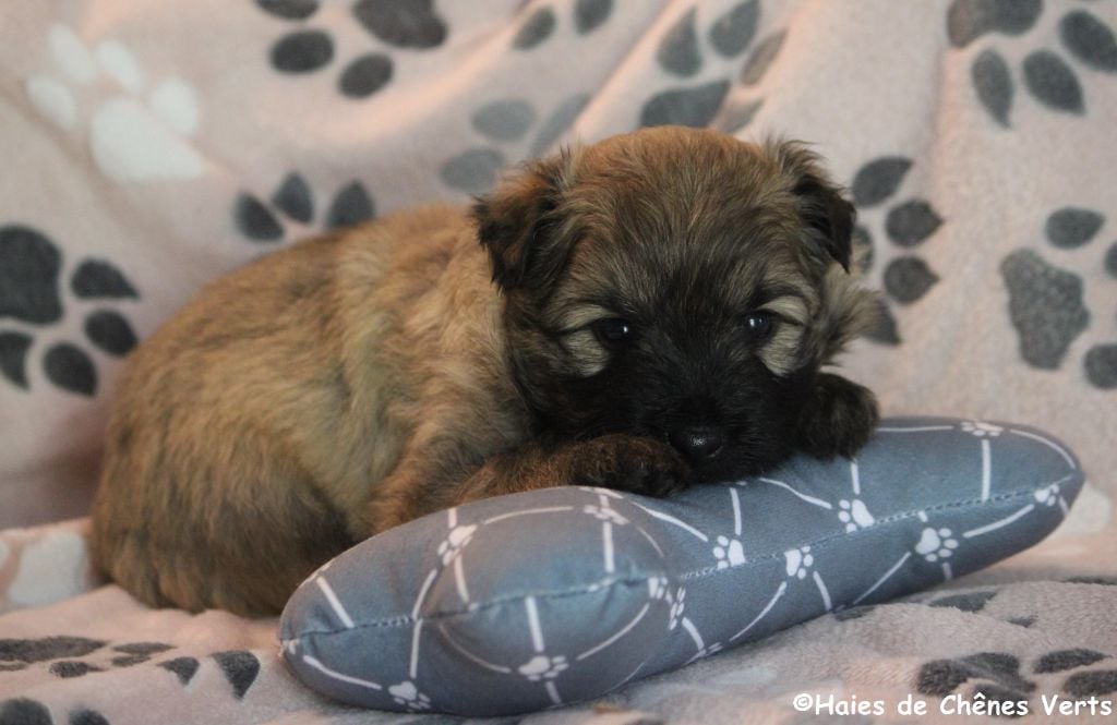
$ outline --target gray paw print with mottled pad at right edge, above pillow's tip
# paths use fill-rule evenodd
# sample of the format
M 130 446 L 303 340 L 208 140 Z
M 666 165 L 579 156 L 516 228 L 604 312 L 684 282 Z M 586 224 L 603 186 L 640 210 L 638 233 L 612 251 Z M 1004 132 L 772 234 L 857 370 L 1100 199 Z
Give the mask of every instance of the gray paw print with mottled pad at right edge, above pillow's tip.
M 1076 265 L 1080 261 L 1077 250 L 1101 237 L 1105 225 L 1105 217 L 1097 211 L 1065 207 L 1048 216 L 1043 232 L 1051 254 Z M 1117 278 L 1117 242 L 1110 245 L 1102 265 L 1109 277 Z M 1082 276 L 1029 248 L 1006 256 L 1001 275 L 1009 290 L 1009 314 L 1020 337 L 1021 357 L 1032 368 L 1059 369 L 1071 343 L 1090 326 Z M 1082 366 L 1092 385 L 1117 388 L 1117 342 L 1091 345 Z

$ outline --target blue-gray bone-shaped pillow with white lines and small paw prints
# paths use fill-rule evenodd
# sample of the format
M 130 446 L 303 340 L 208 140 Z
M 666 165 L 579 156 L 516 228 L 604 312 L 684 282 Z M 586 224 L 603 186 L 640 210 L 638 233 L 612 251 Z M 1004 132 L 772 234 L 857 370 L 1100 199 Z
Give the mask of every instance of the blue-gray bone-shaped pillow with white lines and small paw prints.
M 987 566 L 1050 533 L 1082 478 L 1023 426 L 896 418 L 856 461 L 796 457 L 669 499 L 491 498 L 323 566 L 283 613 L 283 655 L 354 705 L 538 710 Z

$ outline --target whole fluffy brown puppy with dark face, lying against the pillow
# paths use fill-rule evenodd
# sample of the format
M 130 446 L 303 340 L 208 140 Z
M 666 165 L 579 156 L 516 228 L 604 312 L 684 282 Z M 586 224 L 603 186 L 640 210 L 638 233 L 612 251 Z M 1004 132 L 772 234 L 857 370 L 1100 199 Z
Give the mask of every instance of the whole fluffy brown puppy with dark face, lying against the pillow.
M 660 127 L 532 163 L 471 214 L 261 259 L 128 361 L 96 563 L 149 604 L 274 613 L 462 502 L 851 455 L 873 398 L 819 369 L 871 324 L 852 216 L 798 145 Z

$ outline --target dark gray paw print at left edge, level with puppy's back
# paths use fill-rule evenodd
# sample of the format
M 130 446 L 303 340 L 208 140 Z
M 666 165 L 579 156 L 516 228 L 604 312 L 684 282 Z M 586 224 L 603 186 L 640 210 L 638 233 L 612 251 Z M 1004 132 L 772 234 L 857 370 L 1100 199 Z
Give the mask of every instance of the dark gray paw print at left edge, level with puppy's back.
M 65 340 L 37 345 L 37 337 L 49 337 L 47 327 L 76 306 L 85 315 L 86 340 L 102 352 L 123 356 L 135 346 L 135 332 L 120 312 L 103 304 L 140 295 L 112 263 L 83 259 L 69 273 L 67 296 L 60 289 L 65 267 L 61 249 L 38 229 L 0 226 L 0 378 L 28 390 L 28 359 L 37 346 L 46 346 L 40 355 L 46 379 L 68 392 L 92 397 L 97 392 L 97 369 L 83 345 Z

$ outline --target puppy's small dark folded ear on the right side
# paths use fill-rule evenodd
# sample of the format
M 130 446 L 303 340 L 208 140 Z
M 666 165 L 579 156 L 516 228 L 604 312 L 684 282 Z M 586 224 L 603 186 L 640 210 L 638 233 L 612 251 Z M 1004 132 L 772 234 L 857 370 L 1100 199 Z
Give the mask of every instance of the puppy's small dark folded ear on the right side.
M 794 179 L 792 193 L 800 199 L 803 220 L 819 249 L 849 271 L 857 210 L 822 169 L 818 155 L 794 142 L 770 143 L 784 171 Z

